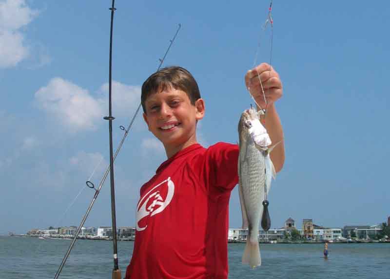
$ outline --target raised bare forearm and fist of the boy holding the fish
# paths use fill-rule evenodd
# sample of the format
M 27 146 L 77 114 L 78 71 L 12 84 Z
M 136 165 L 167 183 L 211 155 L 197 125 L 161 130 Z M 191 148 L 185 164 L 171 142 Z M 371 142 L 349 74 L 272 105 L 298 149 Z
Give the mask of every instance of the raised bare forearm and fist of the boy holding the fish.
M 279 172 L 283 167 L 285 158 L 283 127 L 275 108 L 275 101 L 279 100 L 283 95 L 283 87 L 279 74 L 269 64 L 262 63 L 246 73 L 245 85 L 249 88 L 257 104 L 262 109 L 267 109 L 265 128 L 270 135 L 272 143 L 275 144 L 280 141 L 270 155 L 276 172 Z M 267 100 L 267 107 L 263 91 Z M 257 110 L 259 110 L 259 107 L 257 107 Z M 262 120 L 264 120 L 264 116 L 262 116 Z

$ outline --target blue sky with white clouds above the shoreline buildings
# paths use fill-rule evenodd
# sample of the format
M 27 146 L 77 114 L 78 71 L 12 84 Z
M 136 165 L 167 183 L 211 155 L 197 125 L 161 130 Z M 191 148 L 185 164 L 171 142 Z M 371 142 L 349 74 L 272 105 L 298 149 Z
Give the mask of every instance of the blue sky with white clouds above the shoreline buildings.
M 258 61 L 270 59 L 261 29 L 269 1 L 243 3 L 116 1 L 114 146 L 178 23 L 164 65 L 181 65 L 198 81 L 206 101 L 201 143 L 237 141 L 239 116 L 252 102 L 244 75 L 259 38 Z M 85 181 L 96 169 L 91 180 L 98 184 L 109 162 L 102 117 L 110 6 L 0 0 L 0 234 L 78 225 L 93 197 Z M 340 227 L 390 215 L 389 14 L 388 1 L 273 1 L 286 163 L 270 194 L 272 227 L 289 217 L 298 227 L 306 218 Z M 135 225 L 139 187 L 164 159 L 138 115 L 115 166 L 118 226 Z M 109 188 L 103 186 L 86 225 L 111 225 Z M 235 189 L 230 226 L 240 224 Z

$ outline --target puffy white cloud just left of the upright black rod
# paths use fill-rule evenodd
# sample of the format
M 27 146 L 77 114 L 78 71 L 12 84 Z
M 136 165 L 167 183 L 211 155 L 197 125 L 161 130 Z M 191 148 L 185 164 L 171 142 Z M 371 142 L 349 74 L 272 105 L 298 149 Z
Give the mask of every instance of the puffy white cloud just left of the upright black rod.
M 69 132 L 94 130 L 96 121 L 103 116 L 101 104 L 88 90 L 61 78 L 54 78 L 47 86 L 39 88 L 35 98 L 40 108 Z

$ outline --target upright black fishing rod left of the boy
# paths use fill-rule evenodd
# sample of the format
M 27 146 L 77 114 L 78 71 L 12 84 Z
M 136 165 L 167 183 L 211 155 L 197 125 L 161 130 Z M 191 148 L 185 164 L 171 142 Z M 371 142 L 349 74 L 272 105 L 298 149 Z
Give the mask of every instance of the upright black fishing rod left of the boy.
M 111 29 L 110 29 L 110 65 L 109 65 L 109 81 L 108 81 L 108 116 L 104 117 L 108 120 L 108 129 L 110 134 L 110 185 L 111 185 L 111 220 L 112 220 L 112 232 L 113 232 L 113 248 L 114 248 L 114 269 L 113 279 L 121 279 L 120 269 L 118 266 L 118 249 L 117 249 L 117 218 L 115 212 L 115 185 L 114 185 L 114 156 L 113 156 L 113 120 L 115 117 L 112 115 L 112 97 L 111 97 L 111 85 L 112 85 L 112 56 L 113 56 L 113 26 L 114 26 L 114 7 L 115 0 L 110 8 L 111 10 Z

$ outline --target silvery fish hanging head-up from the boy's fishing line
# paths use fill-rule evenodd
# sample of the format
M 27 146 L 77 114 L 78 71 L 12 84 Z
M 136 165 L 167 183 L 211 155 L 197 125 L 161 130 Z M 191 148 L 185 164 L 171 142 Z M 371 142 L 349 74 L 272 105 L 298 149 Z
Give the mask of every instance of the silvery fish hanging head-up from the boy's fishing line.
M 265 127 L 259 120 L 261 110 L 254 108 L 245 110 L 238 123 L 239 156 L 238 156 L 238 192 L 241 203 L 242 227 L 248 228 L 242 263 L 251 268 L 261 265 L 260 246 L 258 241 L 258 227 L 261 216 L 266 226 L 271 226 L 268 215 L 268 201 L 265 193 L 270 191 L 272 178 L 276 172 L 273 167 L 270 153 L 272 141 Z M 266 204 L 262 204 L 262 202 Z M 263 212 L 263 206 L 267 210 Z M 268 219 L 267 219 L 268 218 Z M 267 229 L 267 230 L 268 230 Z

